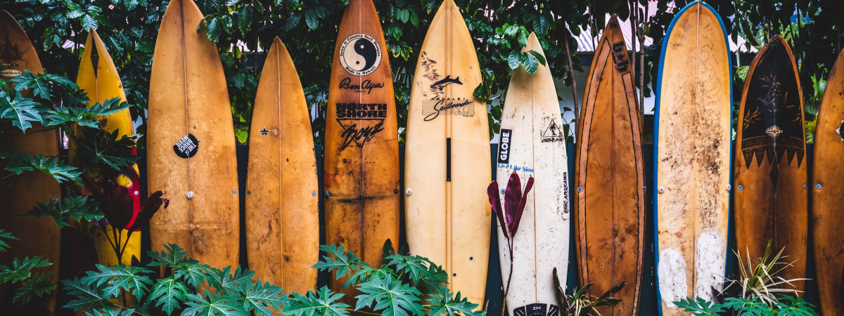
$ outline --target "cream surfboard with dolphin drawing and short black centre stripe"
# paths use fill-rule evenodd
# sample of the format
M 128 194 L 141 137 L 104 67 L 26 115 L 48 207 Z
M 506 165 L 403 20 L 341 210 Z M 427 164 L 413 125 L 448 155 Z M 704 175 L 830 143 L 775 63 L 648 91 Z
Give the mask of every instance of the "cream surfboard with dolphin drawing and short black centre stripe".
M 486 104 L 472 36 L 453 0 L 431 20 L 419 50 L 404 151 L 408 246 L 442 265 L 453 292 L 483 306 L 490 259 L 492 180 Z

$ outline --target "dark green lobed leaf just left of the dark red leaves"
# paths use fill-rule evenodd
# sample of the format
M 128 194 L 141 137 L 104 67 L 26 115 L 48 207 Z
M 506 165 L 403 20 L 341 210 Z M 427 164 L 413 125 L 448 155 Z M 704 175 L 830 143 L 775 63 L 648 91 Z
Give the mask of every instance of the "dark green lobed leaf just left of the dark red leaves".
M 64 200 L 50 199 L 47 203 L 38 202 L 26 215 L 31 217 L 52 217 L 59 228 L 68 227 L 68 222 L 97 221 L 104 217 L 100 205 L 89 196 L 70 196 Z

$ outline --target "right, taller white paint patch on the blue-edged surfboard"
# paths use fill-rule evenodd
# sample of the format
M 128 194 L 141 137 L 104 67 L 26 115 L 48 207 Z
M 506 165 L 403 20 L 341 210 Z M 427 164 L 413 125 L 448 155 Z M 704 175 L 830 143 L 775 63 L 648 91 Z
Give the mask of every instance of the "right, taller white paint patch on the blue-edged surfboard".
M 695 252 L 695 297 L 712 299 L 712 287 L 721 290 L 724 270 L 724 238 L 711 230 L 697 238 Z

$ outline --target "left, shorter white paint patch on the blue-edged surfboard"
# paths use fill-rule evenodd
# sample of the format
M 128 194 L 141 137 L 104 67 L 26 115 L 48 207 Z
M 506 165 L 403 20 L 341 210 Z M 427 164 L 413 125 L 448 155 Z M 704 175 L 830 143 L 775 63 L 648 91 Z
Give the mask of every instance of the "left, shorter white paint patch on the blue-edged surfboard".
M 685 298 L 689 292 L 685 271 L 686 260 L 679 249 L 669 248 L 659 252 L 659 294 L 668 308 L 676 308 L 672 302 Z

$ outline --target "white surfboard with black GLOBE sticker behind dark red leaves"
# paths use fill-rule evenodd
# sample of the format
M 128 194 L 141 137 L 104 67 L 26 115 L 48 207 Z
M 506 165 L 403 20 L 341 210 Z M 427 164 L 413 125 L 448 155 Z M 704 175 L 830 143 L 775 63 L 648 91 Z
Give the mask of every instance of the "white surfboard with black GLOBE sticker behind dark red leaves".
M 522 51 L 543 54 L 531 33 Z M 522 185 L 533 176 L 533 190 L 527 194 L 522 221 L 512 237 L 513 277 L 507 294 L 511 315 L 556 315 L 559 312 L 552 272 L 569 265 L 568 157 L 565 132 L 554 78 L 547 66 L 539 65 L 531 76 L 524 68 L 513 70 L 501 115 L 500 144 L 496 155 L 500 188 L 517 171 Z M 500 199 L 504 201 L 503 191 Z M 506 287 L 511 259 L 504 233 L 498 226 L 501 277 Z M 565 284 L 565 273 L 560 274 Z

